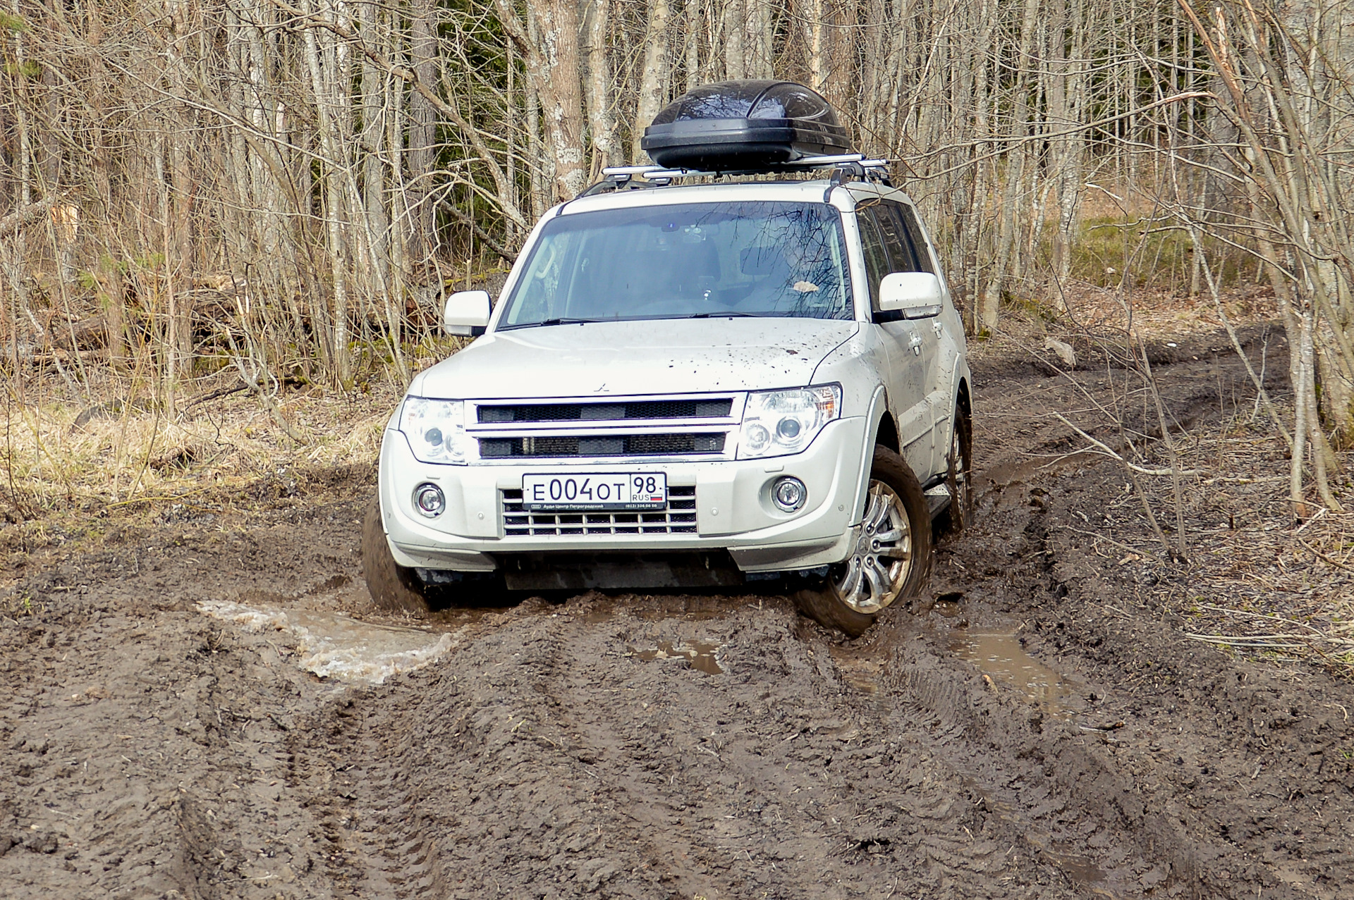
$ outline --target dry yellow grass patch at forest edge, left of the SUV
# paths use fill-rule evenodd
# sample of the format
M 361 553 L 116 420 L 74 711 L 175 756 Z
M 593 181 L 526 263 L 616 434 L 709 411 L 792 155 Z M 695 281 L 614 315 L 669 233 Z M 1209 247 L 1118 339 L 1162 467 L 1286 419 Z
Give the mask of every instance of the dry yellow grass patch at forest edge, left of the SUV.
M 371 490 L 402 387 L 286 388 L 272 410 L 229 374 L 202 379 L 167 418 L 127 380 L 60 379 L 9 394 L 0 444 L 0 614 L 26 612 L 20 579 L 127 541 L 241 528 L 269 510 Z M 187 394 L 187 391 L 184 391 Z M 191 403 L 191 405 L 190 405 Z M 291 433 L 288 436 L 288 432 Z M 294 436 L 294 437 L 292 437 Z

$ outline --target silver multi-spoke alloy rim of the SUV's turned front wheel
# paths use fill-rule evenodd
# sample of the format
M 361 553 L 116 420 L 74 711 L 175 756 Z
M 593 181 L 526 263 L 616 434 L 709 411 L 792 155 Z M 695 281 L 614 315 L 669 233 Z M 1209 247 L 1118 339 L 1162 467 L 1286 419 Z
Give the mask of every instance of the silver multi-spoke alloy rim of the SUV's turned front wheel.
M 877 613 L 898 600 L 913 571 L 913 532 L 898 493 L 871 479 L 865 517 L 852 555 L 839 563 L 833 587 L 858 613 Z

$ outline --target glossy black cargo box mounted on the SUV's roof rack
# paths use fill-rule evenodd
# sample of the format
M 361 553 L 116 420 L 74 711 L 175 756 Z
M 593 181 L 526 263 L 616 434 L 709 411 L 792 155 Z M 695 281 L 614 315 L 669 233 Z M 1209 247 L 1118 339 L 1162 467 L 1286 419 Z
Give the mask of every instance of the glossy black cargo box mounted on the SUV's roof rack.
M 772 171 L 806 156 L 850 153 L 846 129 L 816 91 L 793 81 L 720 81 L 663 107 L 640 148 L 658 165 Z

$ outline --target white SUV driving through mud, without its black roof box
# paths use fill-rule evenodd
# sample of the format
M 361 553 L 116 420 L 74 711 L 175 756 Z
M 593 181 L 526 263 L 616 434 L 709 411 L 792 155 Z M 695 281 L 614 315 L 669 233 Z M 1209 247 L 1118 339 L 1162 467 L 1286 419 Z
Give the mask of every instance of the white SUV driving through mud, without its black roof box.
M 386 426 L 379 605 L 777 579 L 857 635 L 921 591 L 933 520 L 968 505 L 963 326 L 907 195 L 860 157 L 804 164 L 838 168 L 609 171 L 542 218 L 492 311 L 448 299 L 483 337 Z

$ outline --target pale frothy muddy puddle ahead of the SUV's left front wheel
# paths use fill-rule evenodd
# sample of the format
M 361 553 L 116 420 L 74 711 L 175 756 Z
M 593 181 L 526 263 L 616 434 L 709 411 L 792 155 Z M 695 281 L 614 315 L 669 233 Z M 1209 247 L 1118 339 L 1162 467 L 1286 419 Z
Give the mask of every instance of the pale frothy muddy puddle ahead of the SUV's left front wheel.
M 420 669 L 455 646 L 450 633 L 364 623 L 306 609 L 246 606 L 223 600 L 198 604 L 204 614 L 295 652 L 301 669 L 321 678 L 379 685 L 390 675 Z

